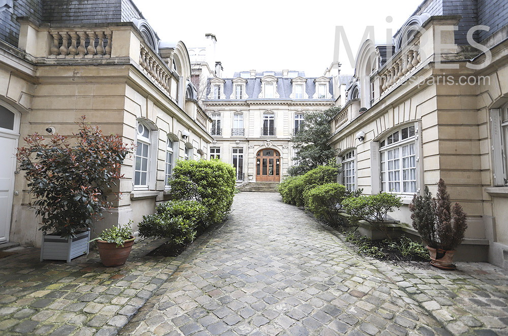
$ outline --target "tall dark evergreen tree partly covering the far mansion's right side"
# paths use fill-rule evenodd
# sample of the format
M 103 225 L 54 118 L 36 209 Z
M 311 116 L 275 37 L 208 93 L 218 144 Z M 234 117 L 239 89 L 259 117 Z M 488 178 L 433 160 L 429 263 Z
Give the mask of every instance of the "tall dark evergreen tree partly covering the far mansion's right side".
M 340 108 L 332 107 L 322 112 L 304 113 L 303 124 L 292 137 L 294 148 L 297 149 L 293 160 L 297 164 L 288 170 L 291 176 L 302 175 L 320 165 L 335 162 L 337 155 L 328 143 L 330 138 L 330 120 L 339 113 Z M 303 125 L 303 126 L 302 126 Z

